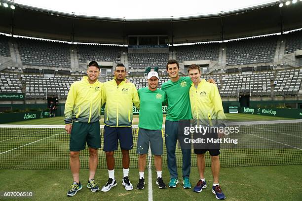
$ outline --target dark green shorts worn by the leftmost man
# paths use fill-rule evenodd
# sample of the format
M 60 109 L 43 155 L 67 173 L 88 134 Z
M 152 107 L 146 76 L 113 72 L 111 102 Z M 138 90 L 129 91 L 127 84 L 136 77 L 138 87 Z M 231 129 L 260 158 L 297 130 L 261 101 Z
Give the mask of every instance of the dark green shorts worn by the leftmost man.
M 99 121 L 90 124 L 73 122 L 69 150 L 83 150 L 86 147 L 86 142 L 88 147 L 95 149 L 101 148 L 101 130 Z

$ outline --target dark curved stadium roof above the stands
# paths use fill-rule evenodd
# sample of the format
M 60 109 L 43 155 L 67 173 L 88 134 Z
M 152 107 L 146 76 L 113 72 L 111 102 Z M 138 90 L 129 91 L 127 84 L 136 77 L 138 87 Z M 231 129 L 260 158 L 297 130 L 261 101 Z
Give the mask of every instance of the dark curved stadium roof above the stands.
M 127 44 L 127 35 L 166 34 L 170 43 L 219 41 L 302 28 L 302 1 L 285 0 L 219 14 L 163 19 L 81 16 L 11 3 L 0 6 L 0 32 L 46 39 Z M 13 26 L 12 26 L 13 25 Z

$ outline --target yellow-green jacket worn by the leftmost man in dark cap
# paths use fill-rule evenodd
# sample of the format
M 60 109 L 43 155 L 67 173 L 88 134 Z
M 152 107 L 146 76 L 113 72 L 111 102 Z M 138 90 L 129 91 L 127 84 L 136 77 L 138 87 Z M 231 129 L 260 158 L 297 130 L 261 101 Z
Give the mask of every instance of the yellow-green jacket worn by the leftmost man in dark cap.
M 73 121 L 93 123 L 100 120 L 103 83 L 90 84 L 88 77 L 70 86 L 65 103 L 65 124 Z

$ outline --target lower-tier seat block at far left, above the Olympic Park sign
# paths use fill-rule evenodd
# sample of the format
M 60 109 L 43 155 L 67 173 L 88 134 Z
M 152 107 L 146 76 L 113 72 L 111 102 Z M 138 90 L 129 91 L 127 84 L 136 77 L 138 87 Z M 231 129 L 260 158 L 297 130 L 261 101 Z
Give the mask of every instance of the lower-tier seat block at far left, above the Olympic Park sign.
M 22 93 L 22 86 L 17 74 L 0 73 L 1 93 Z

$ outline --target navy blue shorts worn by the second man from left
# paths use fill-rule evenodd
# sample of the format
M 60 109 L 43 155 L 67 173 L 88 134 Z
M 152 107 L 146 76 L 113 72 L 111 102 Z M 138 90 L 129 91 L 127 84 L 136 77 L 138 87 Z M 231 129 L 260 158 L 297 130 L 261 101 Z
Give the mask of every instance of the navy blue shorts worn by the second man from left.
M 131 150 L 133 148 L 131 127 L 104 127 L 104 151 L 117 150 L 117 141 L 120 149 Z

